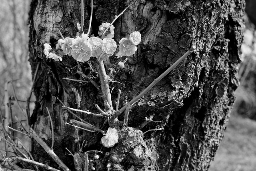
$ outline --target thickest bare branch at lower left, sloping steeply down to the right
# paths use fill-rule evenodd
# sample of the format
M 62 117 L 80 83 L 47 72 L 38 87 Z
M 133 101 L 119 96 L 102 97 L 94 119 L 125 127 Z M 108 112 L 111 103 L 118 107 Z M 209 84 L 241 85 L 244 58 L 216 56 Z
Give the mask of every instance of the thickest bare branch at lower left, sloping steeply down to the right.
M 52 157 L 52 159 L 54 159 L 54 161 L 64 171 L 70 171 L 70 169 L 68 169 L 68 167 L 63 163 L 63 161 L 60 160 L 60 158 L 54 153 L 54 151 L 50 149 L 50 147 L 38 136 L 38 134 L 32 128 L 29 129 L 29 133 L 30 133 L 30 136 L 34 138 L 34 140 L 36 140 L 43 147 L 46 153 L 48 153 L 48 155 L 50 155 L 50 157 Z

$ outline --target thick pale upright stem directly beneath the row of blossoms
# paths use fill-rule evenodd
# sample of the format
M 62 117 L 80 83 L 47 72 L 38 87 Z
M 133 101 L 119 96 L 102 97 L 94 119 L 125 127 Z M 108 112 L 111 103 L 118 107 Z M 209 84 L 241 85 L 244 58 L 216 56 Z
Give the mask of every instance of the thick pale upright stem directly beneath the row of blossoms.
M 105 110 L 109 111 L 113 109 L 110 89 L 109 89 L 109 77 L 106 74 L 103 61 L 99 62 L 97 65 L 98 74 L 100 77 L 101 95 L 104 101 Z

